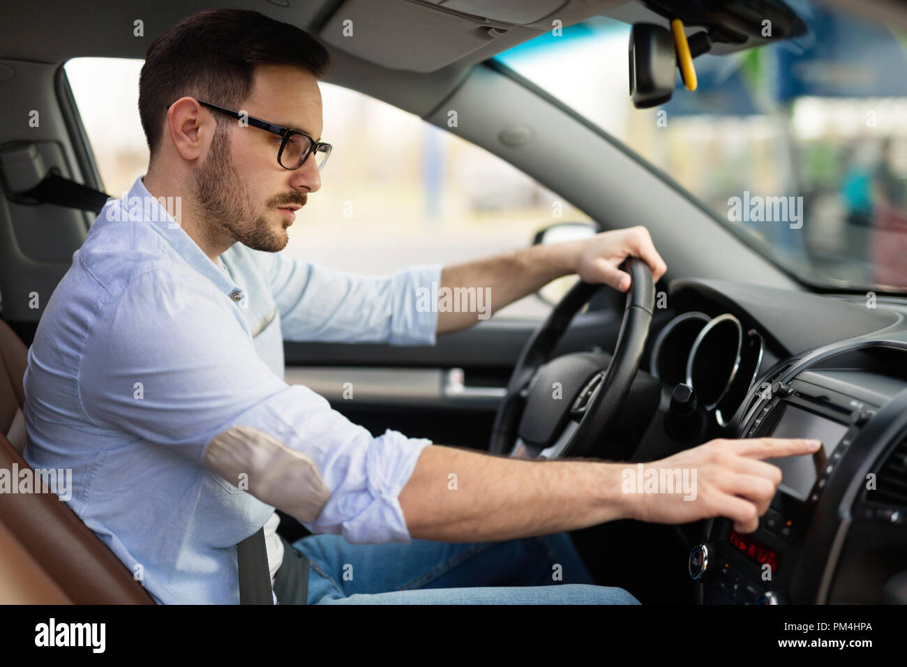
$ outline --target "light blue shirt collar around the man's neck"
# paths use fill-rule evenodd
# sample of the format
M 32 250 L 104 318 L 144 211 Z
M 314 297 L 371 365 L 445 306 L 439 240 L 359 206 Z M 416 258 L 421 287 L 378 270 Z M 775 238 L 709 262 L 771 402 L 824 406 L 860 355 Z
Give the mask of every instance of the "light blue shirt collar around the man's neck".
M 192 240 L 190 235 L 180 227 L 180 223 L 171 216 L 167 208 L 162 206 L 158 199 L 151 196 L 151 193 L 142 182 L 144 177 L 145 174 L 142 174 L 135 180 L 127 195 L 127 200 L 122 201 L 122 206 L 126 209 L 129 218 L 131 220 L 138 218 L 151 225 L 190 267 L 214 283 L 215 287 L 226 294 L 239 308 L 246 308 L 246 290 L 240 288 L 229 277 L 227 271 L 211 261 L 210 257 L 200 249 L 199 244 Z M 174 199 L 172 208 L 179 217 L 180 201 L 179 198 Z

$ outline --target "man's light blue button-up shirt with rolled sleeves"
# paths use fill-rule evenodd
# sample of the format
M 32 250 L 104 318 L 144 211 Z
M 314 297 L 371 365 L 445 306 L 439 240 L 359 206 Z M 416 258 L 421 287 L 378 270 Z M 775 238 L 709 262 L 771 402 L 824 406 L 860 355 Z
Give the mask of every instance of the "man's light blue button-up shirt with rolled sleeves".
M 368 277 L 239 242 L 221 267 L 142 178 L 104 206 L 44 309 L 24 376 L 25 460 L 72 469 L 69 505 L 158 603 L 239 603 L 235 544 L 277 523 L 202 465 L 235 425 L 315 460 L 331 496 L 308 530 L 408 542 L 397 495 L 430 441 L 373 437 L 286 384 L 283 340 L 434 344 L 437 313 L 416 295 L 441 267 Z M 274 558 L 268 548 L 272 574 Z

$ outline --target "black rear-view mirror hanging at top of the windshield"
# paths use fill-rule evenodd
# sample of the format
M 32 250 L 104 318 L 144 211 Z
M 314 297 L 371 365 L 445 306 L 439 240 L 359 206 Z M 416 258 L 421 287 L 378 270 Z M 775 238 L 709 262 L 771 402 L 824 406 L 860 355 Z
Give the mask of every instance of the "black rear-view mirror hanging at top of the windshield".
M 637 24 L 629 34 L 629 95 L 637 109 L 671 99 L 678 59 L 674 37 L 667 28 Z

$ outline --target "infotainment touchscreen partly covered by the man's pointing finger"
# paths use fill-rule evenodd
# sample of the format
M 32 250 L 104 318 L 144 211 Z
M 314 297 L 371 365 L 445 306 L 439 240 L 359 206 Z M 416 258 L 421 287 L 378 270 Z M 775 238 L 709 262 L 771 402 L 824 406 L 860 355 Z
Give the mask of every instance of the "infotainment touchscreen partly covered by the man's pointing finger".
M 816 415 L 814 412 L 795 407 L 785 406 L 785 412 L 778 420 L 772 437 L 809 437 L 822 440 L 822 447 L 827 458 L 831 456 L 834 448 L 844 438 L 847 426 Z M 780 488 L 786 493 L 806 500 L 810 489 L 813 488 L 817 478 L 815 456 L 786 456 L 784 458 L 768 458 L 766 461 L 781 468 L 782 479 Z

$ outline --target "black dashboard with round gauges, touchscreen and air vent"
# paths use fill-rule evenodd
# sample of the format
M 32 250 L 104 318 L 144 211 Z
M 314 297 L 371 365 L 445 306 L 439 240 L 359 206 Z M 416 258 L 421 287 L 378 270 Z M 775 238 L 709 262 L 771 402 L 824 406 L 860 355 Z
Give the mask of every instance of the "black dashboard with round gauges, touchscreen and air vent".
M 823 442 L 769 460 L 782 482 L 754 533 L 697 526 L 697 602 L 907 603 L 907 299 L 677 280 L 668 302 L 649 352 L 662 440 Z

